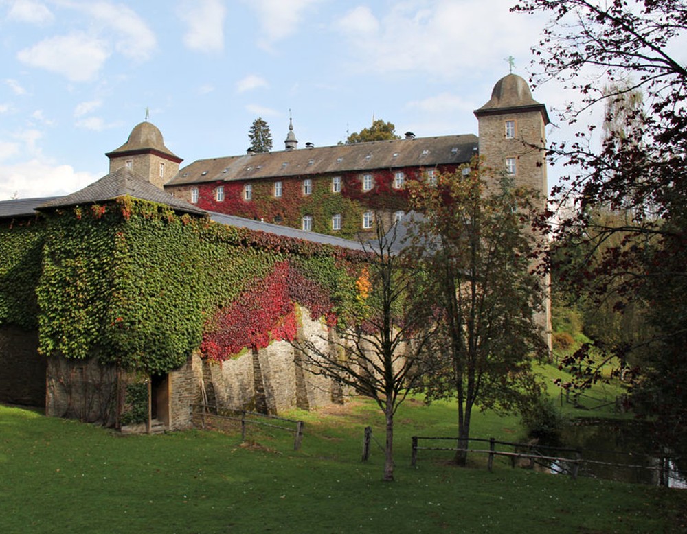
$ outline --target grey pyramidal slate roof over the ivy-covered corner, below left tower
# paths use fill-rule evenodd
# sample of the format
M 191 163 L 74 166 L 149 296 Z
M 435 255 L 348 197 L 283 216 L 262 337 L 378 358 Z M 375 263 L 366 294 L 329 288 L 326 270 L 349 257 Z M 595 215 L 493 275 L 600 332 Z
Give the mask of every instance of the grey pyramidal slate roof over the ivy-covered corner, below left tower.
M 148 202 L 168 205 L 174 210 L 183 213 L 193 213 L 194 215 L 205 215 L 206 213 L 189 202 L 180 198 L 174 198 L 166 191 L 155 187 L 155 185 L 134 174 L 128 167 L 121 167 L 110 174 L 106 174 L 97 182 L 87 185 L 80 189 L 80 191 L 76 191 L 76 193 L 45 202 L 39 209 L 95 204 L 96 202 L 106 202 L 126 195 L 139 198 L 140 200 L 148 200 Z

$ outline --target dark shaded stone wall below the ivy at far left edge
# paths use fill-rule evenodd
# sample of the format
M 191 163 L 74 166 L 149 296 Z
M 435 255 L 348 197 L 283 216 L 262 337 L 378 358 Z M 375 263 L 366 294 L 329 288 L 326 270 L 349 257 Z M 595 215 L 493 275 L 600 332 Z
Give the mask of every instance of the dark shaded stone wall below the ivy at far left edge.
M 0 402 L 45 406 L 45 367 L 37 332 L 0 327 Z

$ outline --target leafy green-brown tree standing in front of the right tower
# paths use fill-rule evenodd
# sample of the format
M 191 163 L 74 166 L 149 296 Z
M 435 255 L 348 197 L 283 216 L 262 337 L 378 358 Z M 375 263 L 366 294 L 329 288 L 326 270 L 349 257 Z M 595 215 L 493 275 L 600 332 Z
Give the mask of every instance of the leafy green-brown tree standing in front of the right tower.
M 458 437 L 466 447 L 474 406 L 513 410 L 539 394 L 530 362 L 547 358 L 535 314 L 543 278 L 531 272 L 541 236 L 528 228 L 532 192 L 503 178 L 487 189 L 491 171 L 476 159 L 471 172 L 441 175 L 436 186 L 410 186 L 414 246 L 427 272 L 425 299 L 438 306 L 444 349 L 427 377 L 430 397 L 457 395 Z M 464 464 L 466 453 L 456 461 Z

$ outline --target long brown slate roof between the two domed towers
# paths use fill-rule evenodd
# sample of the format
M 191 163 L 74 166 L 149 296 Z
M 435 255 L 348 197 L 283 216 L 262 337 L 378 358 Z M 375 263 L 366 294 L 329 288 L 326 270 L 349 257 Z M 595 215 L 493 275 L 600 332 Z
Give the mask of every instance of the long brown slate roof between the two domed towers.
M 300 148 L 197 160 L 179 170 L 165 186 L 401 167 L 431 168 L 460 165 L 475 154 L 477 136 L 472 134 Z

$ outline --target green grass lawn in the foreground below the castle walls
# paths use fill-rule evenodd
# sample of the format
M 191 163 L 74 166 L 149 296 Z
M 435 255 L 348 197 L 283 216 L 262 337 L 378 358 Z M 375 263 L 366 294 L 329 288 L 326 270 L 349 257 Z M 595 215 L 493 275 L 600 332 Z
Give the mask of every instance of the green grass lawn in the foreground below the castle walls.
M 302 450 L 289 434 L 194 430 L 120 436 L 76 421 L 0 406 L 3 533 L 222 532 L 680 532 L 687 492 L 538 474 L 484 459 L 450 465 L 410 436 L 455 434 L 455 409 L 407 402 L 396 417 L 396 482 L 381 481 L 383 441 L 370 402 L 292 412 L 306 421 Z M 476 413 L 473 434 L 512 439 L 515 417 Z

